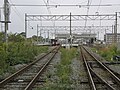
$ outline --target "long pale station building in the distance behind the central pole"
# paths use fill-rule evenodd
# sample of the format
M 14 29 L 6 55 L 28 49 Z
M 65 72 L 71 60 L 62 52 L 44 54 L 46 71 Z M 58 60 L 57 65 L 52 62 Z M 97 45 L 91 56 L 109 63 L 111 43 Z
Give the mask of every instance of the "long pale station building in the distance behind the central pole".
M 55 38 L 58 41 L 62 40 L 62 43 L 68 43 L 70 34 L 56 34 Z M 96 41 L 95 33 L 72 34 L 72 43 L 94 43 L 94 41 Z

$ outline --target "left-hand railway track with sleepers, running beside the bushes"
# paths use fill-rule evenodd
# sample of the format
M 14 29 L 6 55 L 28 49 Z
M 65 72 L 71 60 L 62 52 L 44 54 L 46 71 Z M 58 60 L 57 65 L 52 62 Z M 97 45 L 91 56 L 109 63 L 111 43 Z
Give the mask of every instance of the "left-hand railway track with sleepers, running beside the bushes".
M 47 54 L 42 55 L 29 65 L 2 80 L 0 82 L 0 90 L 33 90 L 33 88 L 38 86 L 37 82 L 44 82 L 44 80 L 40 79 L 40 76 L 42 76 L 42 73 L 52 61 L 59 48 L 60 46 L 55 47 Z

